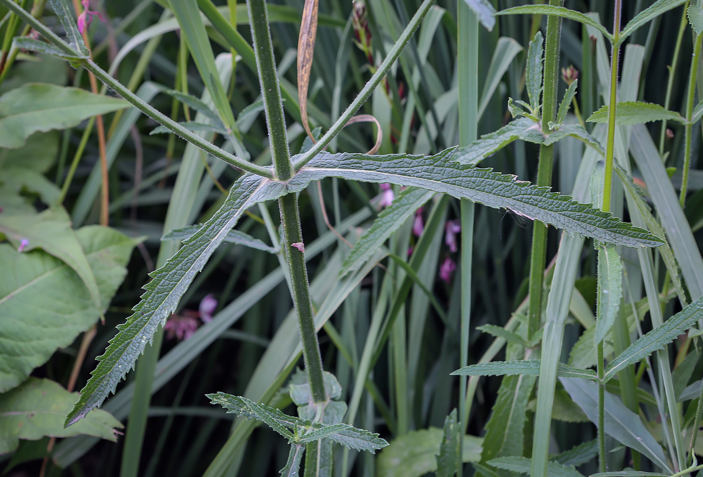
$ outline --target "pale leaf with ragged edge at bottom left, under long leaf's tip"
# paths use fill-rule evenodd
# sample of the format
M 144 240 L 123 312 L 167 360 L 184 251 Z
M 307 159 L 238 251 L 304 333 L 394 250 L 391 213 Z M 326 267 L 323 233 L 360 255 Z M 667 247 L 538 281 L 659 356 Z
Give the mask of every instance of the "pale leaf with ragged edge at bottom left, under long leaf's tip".
M 20 386 L 0 394 L 0 454 L 13 452 L 20 439 L 38 440 L 45 435 L 70 437 L 88 434 L 117 442 L 115 428 L 120 421 L 105 411 L 94 410 L 70 429 L 63 428 L 63 416 L 71 409 L 76 393 L 70 393 L 49 379 L 27 379 Z

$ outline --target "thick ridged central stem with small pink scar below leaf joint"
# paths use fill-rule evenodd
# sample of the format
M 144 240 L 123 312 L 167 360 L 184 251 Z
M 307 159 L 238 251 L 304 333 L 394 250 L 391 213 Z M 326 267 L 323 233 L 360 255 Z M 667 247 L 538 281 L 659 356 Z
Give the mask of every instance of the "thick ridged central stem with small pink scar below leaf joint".
M 292 177 L 293 170 L 285 133 L 283 103 L 280 99 L 280 87 L 276 76 L 276 62 L 273 58 L 273 44 L 271 43 L 266 1 L 249 0 L 247 1 L 247 9 L 254 39 L 254 53 L 257 57 L 259 82 L 261 82 L 262 97 L 264 98 L 266 125 L 269 127 L 271 158 L 273 159 L 273 167 L 276 170 L 276 177 L 285 181 Z M 325 393 L 322 357 L 310 301 L 310 288 L 305 267 L 297 195 L 290 193 L 281 197 L 278 199 L 278 206 L 280 208 L 280 222 L 283 227 L 283 250 L 288 259 L 288 267 L 290 267 L 292 298 L 298 315 L 305 370 L 307 371 L 313 399 L 315 402 L 325 402 L 327 396 Z

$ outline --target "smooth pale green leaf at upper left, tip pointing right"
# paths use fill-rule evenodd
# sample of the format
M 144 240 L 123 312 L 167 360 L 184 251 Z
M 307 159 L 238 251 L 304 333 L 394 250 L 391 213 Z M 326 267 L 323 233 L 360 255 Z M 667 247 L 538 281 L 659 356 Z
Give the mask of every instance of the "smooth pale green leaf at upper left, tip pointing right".
M 84 89 L 27 83 L 0 96 L 0 147 L 18 148 L 34 132 L 74 127 L 88 117 L 130 106 L 124 99 Z

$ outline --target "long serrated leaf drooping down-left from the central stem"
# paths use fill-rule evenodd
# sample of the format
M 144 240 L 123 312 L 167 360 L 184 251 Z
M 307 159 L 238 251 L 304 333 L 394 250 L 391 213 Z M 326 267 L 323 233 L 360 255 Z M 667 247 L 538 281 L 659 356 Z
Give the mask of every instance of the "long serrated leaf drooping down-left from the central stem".
M 202 228 L 183 243 L 183 248 L 160 269 L 144 288 L 146 293 L 134 307 L 127 322 L 117 326 L 119 333 L 110 340 L 105 354 L 98 357 L 98 367 L 81 392 L 66 425 L 82 419 L 93 407 L 101 405 L 117 383 L 134 367 L 153 334 L 176 310 L 179 300 L 219 244 L 226 239 L 239 217 L 252 205 L 278 198 L 285 186 L 253 174 L 246 174 L 232 186 L 229 196 Z

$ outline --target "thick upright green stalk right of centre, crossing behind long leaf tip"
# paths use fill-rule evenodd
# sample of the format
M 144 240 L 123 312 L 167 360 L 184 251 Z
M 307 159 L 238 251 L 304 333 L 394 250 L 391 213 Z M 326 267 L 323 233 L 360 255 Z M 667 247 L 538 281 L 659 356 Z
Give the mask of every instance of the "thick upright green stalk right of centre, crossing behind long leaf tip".
M 561 0 L 549 0 L 552 6 L 561 6 Z M 559 45 L 561 34 L 561 18 L 549 15 L 547 19 L 547 37 L 544 48 L 544 92 L 542 96 L 542 132 L 549 134 L 549 122 L 554 121 L 557 110 L 557 79 L 559 67 Z M 554 145 L 539 148 L 539 163 L 537 166 L 537 185 L 552 184 L 552 169 L 554 165 Z M 529 276 L 529 314 L 527 336 L 532 338 L 541 324 L 542 317 L 542 281 L 544 263 L 547 253 L 547 226 L 538 220 L 534 221 L 532 229 L 532 253 L 530 256 Z

